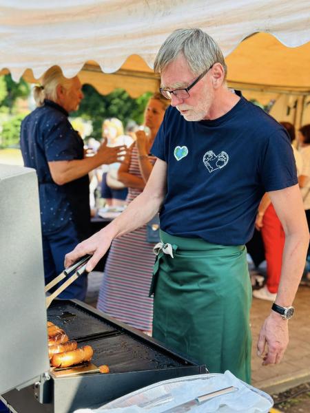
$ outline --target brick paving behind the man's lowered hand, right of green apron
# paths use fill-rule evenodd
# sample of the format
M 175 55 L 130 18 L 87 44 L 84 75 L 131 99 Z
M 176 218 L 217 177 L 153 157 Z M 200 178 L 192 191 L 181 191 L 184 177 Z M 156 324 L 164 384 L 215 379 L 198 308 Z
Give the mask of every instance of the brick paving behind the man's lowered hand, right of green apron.
M 271 302 L 253 299 L 251 308 L 252 384 L 269 393 L 310 381 L 310 288 L 300 286 L 294 301 L 295 315 L 289 321 L 289 346 L 280 364 L 262 366 L 256 355 L 258 332 L 269 314 Z

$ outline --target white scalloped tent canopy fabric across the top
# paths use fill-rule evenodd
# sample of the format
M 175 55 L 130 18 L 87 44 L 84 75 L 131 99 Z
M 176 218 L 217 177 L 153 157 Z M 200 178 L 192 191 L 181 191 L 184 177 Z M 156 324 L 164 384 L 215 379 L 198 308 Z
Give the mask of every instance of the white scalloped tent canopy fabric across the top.
M 309 0 L 5 0 L 0 68 L 18 80 L 57 64 L 72 77 L 91 60 L 112 73 L 132 54 L 152 67 L 168 34 L 186 27 L 208 32 L 225 55 L 254 32 L 296 47 L 310 39 L 307 10 Z

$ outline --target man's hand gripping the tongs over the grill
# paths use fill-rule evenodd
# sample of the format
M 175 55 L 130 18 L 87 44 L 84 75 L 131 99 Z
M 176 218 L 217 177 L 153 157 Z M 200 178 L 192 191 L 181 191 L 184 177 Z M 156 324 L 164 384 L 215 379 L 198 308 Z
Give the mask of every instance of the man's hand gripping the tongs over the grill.
M 99 260 L 107 250 L 110 248 L 112 242 L 112 237 L 108 235 L 105 229 L 95 233 L 92 237 L 87 238 L 87 240 L 77 244 L 71 253 L 65 255 L 65 268 L 68 268 L 74 262 L 83 257 L 83 255 L 90 254 L 92 258 L 87 262 L 86 271 L 90 273 L 98 264 Z

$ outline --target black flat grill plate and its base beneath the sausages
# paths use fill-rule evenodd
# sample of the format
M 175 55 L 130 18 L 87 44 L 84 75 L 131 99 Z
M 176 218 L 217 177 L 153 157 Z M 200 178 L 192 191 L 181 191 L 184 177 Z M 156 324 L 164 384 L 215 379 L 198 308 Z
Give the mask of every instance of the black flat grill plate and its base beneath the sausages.
M 92 363 L 107 364 L 110 373 L 81 377 L 55 377 L 51 373 L 50 380 L 43 379 L 37 387 L 30 385 L 3 394 L 19 413 L 68 413 L 98 407 L 146 385 L 206 371 L 205 366 L 78 301 L 53 301 L 48 321 L 63 328 L 79 347 L 92 346 Z

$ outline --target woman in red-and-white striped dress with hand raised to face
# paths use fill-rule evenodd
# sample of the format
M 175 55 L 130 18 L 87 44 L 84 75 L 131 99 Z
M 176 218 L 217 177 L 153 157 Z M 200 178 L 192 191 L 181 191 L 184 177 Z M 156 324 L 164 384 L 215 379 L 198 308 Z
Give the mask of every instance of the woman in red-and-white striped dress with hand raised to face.
M 118 170 L 118 180 L 128 187 L 129 204 L 144 189 L 155 158 L 149 156 L 154 138 L 163 121 L 169 100 L 154 94 L 145 108 L 145 129 L 136 132 L 127 162 Z M 145 332 L 152 330 L 153 298 L 149 286 L 155 261 L 154 244 L 147 242 L 147 226 L 114 240 L 105 264 L 97 308 L 119 321 Z

